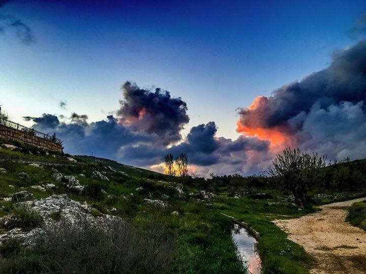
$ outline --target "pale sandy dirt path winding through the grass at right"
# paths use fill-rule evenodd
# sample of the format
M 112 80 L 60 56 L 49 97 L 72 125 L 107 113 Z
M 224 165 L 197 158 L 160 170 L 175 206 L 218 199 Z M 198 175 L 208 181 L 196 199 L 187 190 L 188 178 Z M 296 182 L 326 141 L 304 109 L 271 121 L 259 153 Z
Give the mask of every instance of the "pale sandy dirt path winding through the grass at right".
M 274 223 L 314 256 L 312 273 L 366 273 L 366 232 L 345 221 L 347 207 L 365 199 L 326 204 L 320 212 Z

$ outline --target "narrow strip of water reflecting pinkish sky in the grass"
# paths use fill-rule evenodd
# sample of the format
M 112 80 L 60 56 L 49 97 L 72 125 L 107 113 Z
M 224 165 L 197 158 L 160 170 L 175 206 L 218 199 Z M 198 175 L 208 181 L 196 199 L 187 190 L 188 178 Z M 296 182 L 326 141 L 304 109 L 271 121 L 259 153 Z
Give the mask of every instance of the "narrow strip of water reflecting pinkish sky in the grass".
M 250 273 L 260 274 L 262 261 L 256 251 L 256 239 L 245 228 L 237 224 L 234 224 L 231 235 L 237 246 L 238 256 L 243 262 L 243 265 L 248 266 Z

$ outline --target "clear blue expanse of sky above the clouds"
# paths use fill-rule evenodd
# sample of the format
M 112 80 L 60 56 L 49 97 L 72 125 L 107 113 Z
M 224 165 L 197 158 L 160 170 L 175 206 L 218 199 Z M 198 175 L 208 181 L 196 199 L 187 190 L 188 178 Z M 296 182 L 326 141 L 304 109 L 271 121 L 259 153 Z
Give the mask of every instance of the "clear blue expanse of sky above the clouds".
M 42 113 L 105 118 L 120 85 L 181 96 L 186 126 L 215 121 L 236 138 L 236 108 L 321 70 L 364 1 L 13 1 L 2 13 L 32 28 L 34 42 L 0 35 L 0 96 L 15 120 Z M 58 103 L 67 101 L 62 110 Z

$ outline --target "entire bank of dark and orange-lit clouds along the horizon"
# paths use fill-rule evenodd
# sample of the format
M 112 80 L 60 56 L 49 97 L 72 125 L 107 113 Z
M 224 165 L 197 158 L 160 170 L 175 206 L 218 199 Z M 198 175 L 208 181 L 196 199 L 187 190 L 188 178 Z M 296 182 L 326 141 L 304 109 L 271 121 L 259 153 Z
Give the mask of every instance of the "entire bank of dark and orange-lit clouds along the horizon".
M 258 174 L 276 153 L 287 146 L 327 154 L 328 159 L 366 156 L 366 40 L 333 54 L 330 65 L 301 81 L 258 96 L 239 110 L 236 140 L 216 136 L 211 121 L 193 126 L 187 104 L 159 88 L 149 90 L 135 83 L 123 85 L 124 99 L 115 115 L 87 121 L 73 113 L 69 122 L 55 115 L 25 117 L 41 131 L 55 131 L 66 152 L 93 154 L 162 171 L 166 153 L 188 154 L 201 175 Z

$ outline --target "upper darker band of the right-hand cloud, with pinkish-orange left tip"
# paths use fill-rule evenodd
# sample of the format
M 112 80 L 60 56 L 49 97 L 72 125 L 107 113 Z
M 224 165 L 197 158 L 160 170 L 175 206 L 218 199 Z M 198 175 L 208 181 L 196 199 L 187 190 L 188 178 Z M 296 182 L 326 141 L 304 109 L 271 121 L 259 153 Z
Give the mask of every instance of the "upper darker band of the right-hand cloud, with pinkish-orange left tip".
M 240 122 L 250 127 L 270 128 L 287 123 L 301 112 L 309 113 L 315 102 L 322 108 L 341 101 L 365 99 L 366 41 L 333 54 L 329 67 L 258 98 L 253 109 L 241 109 Z

